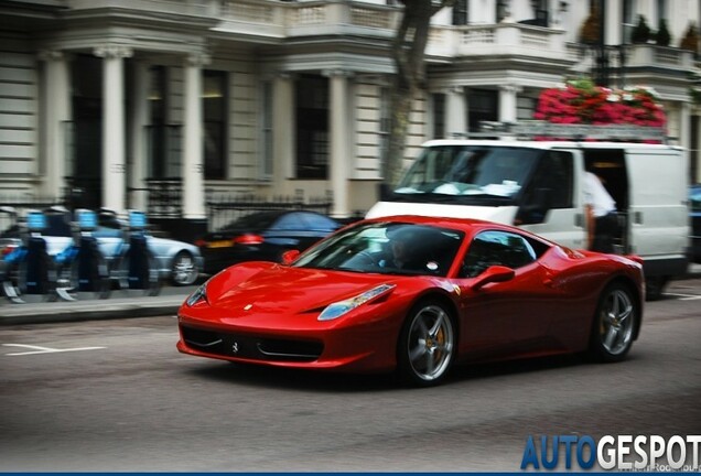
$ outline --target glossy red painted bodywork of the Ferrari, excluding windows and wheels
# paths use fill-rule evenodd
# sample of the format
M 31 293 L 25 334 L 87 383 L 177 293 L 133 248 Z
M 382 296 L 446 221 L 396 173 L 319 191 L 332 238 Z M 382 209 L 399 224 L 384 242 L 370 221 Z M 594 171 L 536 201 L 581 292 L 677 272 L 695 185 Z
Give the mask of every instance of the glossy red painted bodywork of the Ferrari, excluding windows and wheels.
M 177 315 L 179 325 L 319 340 L 323 342 L 324 351 L 314 361 L 256 363 L 369 372 L 395 368 L 397 339 L 405 317 L 419 299 L 428 295 L 449 301 L 459 316 L 457 361 L 584 350 L 598 296 L 613 279 L 628 281 L 638 293 L 639 305 L 644 302 L 641 266 L 634 259 L 570 250 L 521 229 L 488 221 L 413 216 L 373 221 L 388 220 L 464 230 L 464 244 L 447 278 L 247 262 L 209 280 L 208 302 L 199 301 L 192 307 L 183 304 Z M 514 279 L 475 289 L 479 278 L 457 279 L 455 275 L 472 237 L 485 229 L 519 232 L 551 248 L 535 263 L 517 269 Z M 396 284 L 396 288 L 382 299 L 337 320 L 317 321 L 327 304 L 382 283 Z M 191 348 L 183 342 L 182 334 L 177 349 L 202 357 L 247 361 Z

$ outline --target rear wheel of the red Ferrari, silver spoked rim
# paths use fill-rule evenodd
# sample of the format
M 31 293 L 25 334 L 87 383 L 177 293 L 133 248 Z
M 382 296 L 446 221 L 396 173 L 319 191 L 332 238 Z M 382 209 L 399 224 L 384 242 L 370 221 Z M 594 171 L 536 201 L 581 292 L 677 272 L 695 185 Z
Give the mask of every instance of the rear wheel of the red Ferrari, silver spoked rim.
M 640 311 L 630 289 L 610 284 L 602 293 L 590 340 L 590 355 L 605 363 L 623 360 L 630 347 L 640 320 Z

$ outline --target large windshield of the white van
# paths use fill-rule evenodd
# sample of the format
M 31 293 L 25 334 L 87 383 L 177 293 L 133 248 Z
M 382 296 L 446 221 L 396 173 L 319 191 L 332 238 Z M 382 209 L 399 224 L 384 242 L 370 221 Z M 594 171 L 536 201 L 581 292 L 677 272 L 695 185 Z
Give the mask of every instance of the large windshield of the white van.
M 391 195 L 411 202 L 510 202 L 541 154 L 539 149 L 499 145 L 424 148 Z

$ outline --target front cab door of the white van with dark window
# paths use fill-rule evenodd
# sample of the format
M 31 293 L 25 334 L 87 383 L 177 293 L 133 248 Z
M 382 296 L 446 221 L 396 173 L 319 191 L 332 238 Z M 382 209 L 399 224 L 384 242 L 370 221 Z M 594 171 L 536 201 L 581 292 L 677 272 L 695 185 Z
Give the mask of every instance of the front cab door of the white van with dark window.
M 515 224 L 569 248 L 584 248 L 582 153 L 549 150 L 529 181 Z

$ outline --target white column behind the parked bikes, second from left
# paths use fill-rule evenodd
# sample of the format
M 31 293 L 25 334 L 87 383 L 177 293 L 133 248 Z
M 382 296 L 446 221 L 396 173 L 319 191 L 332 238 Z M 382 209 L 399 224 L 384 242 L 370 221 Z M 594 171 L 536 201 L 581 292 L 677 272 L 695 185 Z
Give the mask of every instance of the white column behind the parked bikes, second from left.
M 95 48 L 103 58 L 103 206 L 118 214 L 127 206 L 123 58 L 131 54 L 118 45 Z

